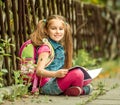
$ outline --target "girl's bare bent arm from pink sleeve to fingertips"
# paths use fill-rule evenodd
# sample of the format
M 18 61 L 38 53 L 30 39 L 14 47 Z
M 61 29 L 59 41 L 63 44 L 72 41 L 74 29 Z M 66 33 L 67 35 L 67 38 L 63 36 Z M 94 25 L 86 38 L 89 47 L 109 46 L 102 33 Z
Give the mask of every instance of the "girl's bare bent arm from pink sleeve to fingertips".
M 37 75 L 42 77 L 59 77 L 59 78 L 64 77 L 68 72 L 67 69 L 60 69 L 58 71 L 45 70 L 45 65 L 48 56 L 49 56 L 49 52 L 42 52 L 41 54 L 39 54 L 37 68 L 36 68 Z

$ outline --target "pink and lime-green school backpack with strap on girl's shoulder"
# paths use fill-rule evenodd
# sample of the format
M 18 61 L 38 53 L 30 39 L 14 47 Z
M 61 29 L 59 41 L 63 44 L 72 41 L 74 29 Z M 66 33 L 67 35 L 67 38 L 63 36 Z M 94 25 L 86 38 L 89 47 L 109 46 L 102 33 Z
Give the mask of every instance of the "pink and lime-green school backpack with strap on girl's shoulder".
M 46 67 L 53 61 L 54 59 L 54 49 L 52 45 L 48 42 L 47 39 L 43 39 L 44 44 L 48 45 L 51 53 L 50 57 L 47 60 Z M 20 57 L 20 70 L 21 74 L 27 75 L 28 78 L 24 78 L 24 82 L 32 83 L 32 93 L 38 91 L 37 85 L 39 80 L 41 79 L 36 75 L 36 57 L 37 57 L 37 49 L 33 46 L 31 40 L 27 40 L 23 43 L 19 51 Z

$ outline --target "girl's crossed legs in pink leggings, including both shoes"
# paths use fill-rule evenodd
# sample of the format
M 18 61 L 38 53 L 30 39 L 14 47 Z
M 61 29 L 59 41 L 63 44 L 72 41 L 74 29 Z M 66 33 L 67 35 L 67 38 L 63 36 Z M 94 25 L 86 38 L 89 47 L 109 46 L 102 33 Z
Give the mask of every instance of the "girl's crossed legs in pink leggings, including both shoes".
M 57 79 L 57 83 L 64 94 L 72 96 L 91 93 L 92 87 L 88 85 L 90 82 L 91 80 L 84 81 L 84 74 L 79 69 L 74 69 L 64 78 Z

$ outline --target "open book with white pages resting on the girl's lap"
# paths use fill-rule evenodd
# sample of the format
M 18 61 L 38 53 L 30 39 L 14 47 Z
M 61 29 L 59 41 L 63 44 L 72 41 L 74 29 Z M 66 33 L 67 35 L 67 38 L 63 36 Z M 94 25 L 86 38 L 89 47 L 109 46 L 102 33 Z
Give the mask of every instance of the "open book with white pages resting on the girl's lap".
M 82 70 L 82 72 L 84 73 L 84 79 L 94 79 L 96 78 L 102 71 L 102 68 L 97 68 L 97 69 L 92 69 L 92 70 L 87 70 L 84 67 L 80 67 L 80 66 L 75 66 L 70 68 L 69 70 L 74 70 L 74 69 L 80 69 Z

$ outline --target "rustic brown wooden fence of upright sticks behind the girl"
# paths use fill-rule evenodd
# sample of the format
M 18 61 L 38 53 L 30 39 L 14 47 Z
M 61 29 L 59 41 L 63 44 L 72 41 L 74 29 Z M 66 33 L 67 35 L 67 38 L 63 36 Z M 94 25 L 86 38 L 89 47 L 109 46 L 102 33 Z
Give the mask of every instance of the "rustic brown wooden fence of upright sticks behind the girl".
M 3 0 L 0 1 L 0 38 L 11 38 L 15 47 L 6 49 L 7 83 L 18 69 L 18 52 L 36 24 L 51 14 L 65 16 L 73 29 L 74 50 L 84 48 L 95 57 L 120 55 L 120 15 L 75 0 Z

